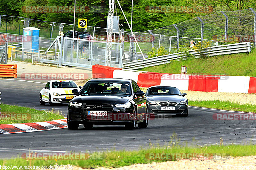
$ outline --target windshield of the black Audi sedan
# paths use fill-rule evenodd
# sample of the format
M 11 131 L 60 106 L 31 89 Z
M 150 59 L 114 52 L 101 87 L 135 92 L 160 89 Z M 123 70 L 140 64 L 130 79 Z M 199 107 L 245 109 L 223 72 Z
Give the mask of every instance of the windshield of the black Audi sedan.
M 131 95 L 128 82 L 97 81 L 87 82 L 80 94 L 126 94 Z

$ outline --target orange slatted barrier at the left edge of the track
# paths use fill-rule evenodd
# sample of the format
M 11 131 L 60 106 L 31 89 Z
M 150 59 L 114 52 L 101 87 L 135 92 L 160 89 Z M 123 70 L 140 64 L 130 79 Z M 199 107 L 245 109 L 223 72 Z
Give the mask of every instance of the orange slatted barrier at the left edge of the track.
M 17 78 L 17 64 L 0 64 L 0 77 Z

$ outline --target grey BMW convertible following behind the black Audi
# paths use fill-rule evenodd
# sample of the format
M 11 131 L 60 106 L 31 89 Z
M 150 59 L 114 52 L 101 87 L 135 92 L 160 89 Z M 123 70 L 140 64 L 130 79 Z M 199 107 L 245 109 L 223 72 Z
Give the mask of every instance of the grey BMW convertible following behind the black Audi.
M 188 99 L 176 87 L 151 86 L 146 92 L 149 114 L 176 114 L 188 117 Z

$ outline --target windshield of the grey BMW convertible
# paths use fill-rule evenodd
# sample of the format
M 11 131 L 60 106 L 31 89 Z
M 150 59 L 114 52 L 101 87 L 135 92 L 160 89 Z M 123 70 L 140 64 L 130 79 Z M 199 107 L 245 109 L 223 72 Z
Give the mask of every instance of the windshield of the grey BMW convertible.
M 180 90 L 176 87 L 152 87 L 148 89 L 148 95 L 179 95 Z

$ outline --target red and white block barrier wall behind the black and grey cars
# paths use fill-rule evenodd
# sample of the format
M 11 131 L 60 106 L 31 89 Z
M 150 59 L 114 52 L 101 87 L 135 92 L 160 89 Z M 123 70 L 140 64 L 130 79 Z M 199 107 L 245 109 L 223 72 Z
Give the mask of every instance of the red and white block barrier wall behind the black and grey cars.
M 141 87 L 168 85 L 180 90 L 202 92 L 256 93 L 256 77 L 247 76 L 212 76 L 169 74 L 147 71 L 127 70 L 102 65 L 92 66 L 93 78 L 132 79 Z

